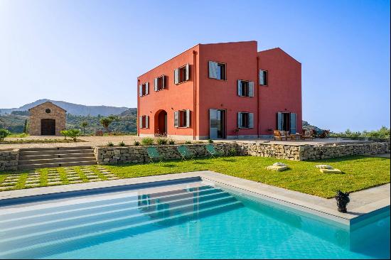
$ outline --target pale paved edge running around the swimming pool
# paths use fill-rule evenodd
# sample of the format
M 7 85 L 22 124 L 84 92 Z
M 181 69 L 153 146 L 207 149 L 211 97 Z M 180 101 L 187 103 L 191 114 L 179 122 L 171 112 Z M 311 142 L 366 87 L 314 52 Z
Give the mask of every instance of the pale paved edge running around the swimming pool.
M 89 190 L 93 188 L 105 188 L 119 185 L 132 185 L 139 183 L 154 183 L 164 180 L 178 180 L 183 178 L 200 178 L 206 183 L 221 185 L 222 187 L 238 190 L 242 194 L 261 197 L 264 200 L 277 202 L 280 205 L 294 207 L 298 210 L 310 212 L 311 214 L 326 217 L 330 220 L 350 224 L 352 220 L 369 212 L 390 207 L 390 184 L 381 185 L 375 188 L 358 191 L 350 194 L 348 213 L 341 213 L 336 210 L 336 200 L 299 193 L 293 190 L 286 190 L 252 180 L 245 180 L 210 170 L 203 170 L 190 173 L 176 173 L 168 175 L 154 175 L 140 178 L 128 178 L 119 180 L 107 180 L 96 183 L 79 183 L 43 188 L 31 188 L 27 190 L 9 190 L 0 193 L 1 200 L 32 195 L 43 195 L 51 193 L 63 193 L 75 190 Z

